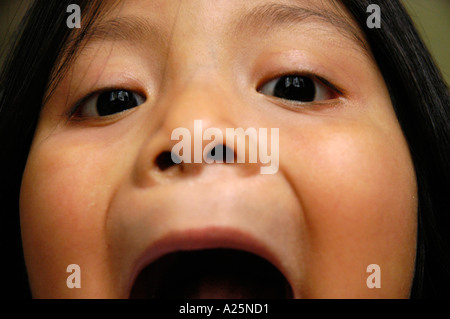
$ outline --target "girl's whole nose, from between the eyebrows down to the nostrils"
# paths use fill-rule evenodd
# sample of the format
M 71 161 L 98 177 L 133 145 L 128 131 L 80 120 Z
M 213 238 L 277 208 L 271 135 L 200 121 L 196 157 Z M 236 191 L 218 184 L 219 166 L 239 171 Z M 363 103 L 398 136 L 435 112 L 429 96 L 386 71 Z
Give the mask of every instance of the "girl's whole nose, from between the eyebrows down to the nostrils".
M 188 11 L 180 12 L 188 14 Z M 223 43 L 206 24 L 198 19 L 195 22 L 185 23 L 179 16 L 173 28 L 163 77 L 153 100 L 155 126 L 151 136 L 145 138 L 136 161 L 135 180 L 144 187 L 158 181 L 191 178 L 201 172 L 216 174 L 225 170 L 245 176 L 259 172 L 260 164 L 246 162 L 246 148 L 250 143 L 242 143 L 245 136 L 240 138 L 240 144 L 227 136 L 228 128 L 242 126 L 240 115 L 245 102 L 236 94 L 239 88 L 233 67 L 224 63 L 226 54 L 218 53 Z M 199 28 L 202 32 L 197 36 Z M 239 132 L 239 135 L 243 134 Z M 253 146 L 254 139 L 251 142 Z M 240 147 L 241 144 L 244 146 Z M 178 163 L 180 158 L 172 156 L 177 147 L 182 149 L 176 154 L 182 154 Z M 190 154 L 185 156 L 185 150 Z M 230 158 L 235 159 L 236 165 L 222 165 Z M 213 165 L 214 168 L 205 169 L 213 163 L 220 163 L 220 168 Z

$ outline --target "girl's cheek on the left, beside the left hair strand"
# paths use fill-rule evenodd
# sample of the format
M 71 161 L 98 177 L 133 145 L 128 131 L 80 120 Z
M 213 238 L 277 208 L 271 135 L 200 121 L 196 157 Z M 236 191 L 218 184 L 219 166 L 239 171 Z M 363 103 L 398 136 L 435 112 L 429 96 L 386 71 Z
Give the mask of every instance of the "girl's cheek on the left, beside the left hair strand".
M 96 283 L 108 276 L 104 220 L 115 174 L 108 161 L 108 152 L 72 151 L 51 141 L 32 149 L 20 219 L 34 297 L 96 296 Z M 68 289 L 69 264 L 80 266 L 90 291 Z

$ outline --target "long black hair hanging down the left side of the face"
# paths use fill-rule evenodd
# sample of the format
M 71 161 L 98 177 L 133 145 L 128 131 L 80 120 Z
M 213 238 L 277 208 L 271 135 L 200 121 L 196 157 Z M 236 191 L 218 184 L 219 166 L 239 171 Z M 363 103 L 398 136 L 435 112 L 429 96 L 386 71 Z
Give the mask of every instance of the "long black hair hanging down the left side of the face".
M 67 6 L 77 4 L 83 26 L 70 39 Z M 5 290 L 10 298 L 29 298 L 20 233 L 19 195 L 22 174 L 39 113 L 65 66 L 75 57 L 77 45 L 100 13 L 102 1 L 36 0 L 25 14 L 0 74 L 0 202 Z M 64 60 L 63 57 L 64 56 Z M 57 65 L 61 67 L 56 68 Z

